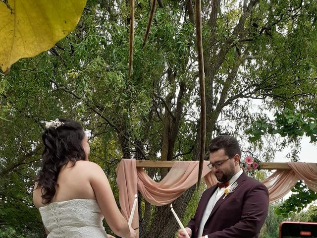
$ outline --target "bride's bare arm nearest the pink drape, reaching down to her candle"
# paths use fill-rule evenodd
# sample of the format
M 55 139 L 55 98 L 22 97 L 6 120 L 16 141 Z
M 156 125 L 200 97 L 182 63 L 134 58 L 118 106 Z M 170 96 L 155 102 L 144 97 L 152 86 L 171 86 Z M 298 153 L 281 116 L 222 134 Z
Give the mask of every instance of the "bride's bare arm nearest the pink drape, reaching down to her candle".
M 124 219 L 115 202 L 109 181 L 102 168 L 95 164 L 89 163 L 90 168 L 90 184 L 94 189 L 98 205 L 105 216 L 106 223 L 114 234 L 120 237 L 134 238 L 134 234 L 130 234 L 128 222 Z

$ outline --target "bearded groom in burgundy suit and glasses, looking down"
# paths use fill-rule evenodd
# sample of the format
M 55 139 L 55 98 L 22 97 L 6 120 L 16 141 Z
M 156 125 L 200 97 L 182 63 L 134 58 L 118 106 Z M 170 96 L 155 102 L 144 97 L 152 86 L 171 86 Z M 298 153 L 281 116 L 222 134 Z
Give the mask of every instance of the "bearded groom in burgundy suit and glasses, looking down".
M 268 210 L 268 191 L 240 168 L 236 138 L 215 137 L 210 145 L 209 168 L 219 183 L 202 195 L 186 231 L 191 238 L 257 238 Z M 178 238 L 185 238 L 182 230 Z

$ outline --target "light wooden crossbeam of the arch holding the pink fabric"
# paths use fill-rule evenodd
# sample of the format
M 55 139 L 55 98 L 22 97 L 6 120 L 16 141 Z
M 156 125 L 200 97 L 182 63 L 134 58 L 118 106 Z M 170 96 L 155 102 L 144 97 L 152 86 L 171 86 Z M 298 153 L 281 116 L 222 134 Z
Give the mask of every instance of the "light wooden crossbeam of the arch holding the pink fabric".
M 138 168 L 172 168 L 174 161 L 137 160 Z M 262 170 L 289 170 L 287 163 L 261 163 Z

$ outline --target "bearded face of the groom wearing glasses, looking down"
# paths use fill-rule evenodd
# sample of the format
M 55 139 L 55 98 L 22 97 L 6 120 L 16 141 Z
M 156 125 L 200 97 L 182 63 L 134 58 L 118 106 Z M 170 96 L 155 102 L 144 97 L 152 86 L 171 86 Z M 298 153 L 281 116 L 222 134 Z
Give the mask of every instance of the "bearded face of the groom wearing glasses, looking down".
M 210 163 L 213 164 L 213 173 L 219 182 L 226 182 L 235 174 L 234 159 L 229 158 L 224 149 L 209 154 Z

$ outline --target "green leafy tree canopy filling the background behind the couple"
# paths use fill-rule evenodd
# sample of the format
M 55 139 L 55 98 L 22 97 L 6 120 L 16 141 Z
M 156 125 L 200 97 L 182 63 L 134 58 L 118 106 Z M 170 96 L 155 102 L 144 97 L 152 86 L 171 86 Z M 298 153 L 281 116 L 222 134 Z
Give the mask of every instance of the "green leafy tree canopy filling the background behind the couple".
M 129 1 L 121 0 L 88 0 L 71 34 L 1 74 L 0 235 L 44 236 L 32 205 L 44 120 L 83 123 L 90 160 L 104 168 L 115 194 L 121 158 L 198 160 L 193 2 L 159 4 L 142 47 L 151 2 L 135 5 L 130 78 Z M 317 2 L 210 0 L 202 2 L 202 17 L 207 143 L 229 133 L 241 142 L 243 156 L 268 162 L 275 151 L 292 146 L 291 160 L 298 160 L 299 139 L 313 135 L 315 141 L 317 135 Z M 147 172 L 156 180 L 166 174 Z M 185 224 L 200 193 L 194 186 L 175 201 Z M 178 225 L 168 206 L 141 199 L 139 208 L 140 238 L 174 236 Z

